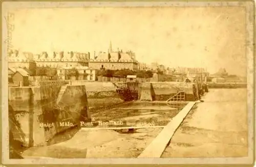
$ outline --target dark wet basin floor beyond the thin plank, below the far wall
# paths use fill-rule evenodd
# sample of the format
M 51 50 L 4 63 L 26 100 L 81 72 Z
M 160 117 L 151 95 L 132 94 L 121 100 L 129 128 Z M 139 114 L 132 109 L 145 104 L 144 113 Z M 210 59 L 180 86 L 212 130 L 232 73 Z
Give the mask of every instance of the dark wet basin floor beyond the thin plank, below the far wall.
M 94 122 L 122 121 L 122 125 L 106 126 L 165 126 L 185 104 L 135 102 L 92 114 Z

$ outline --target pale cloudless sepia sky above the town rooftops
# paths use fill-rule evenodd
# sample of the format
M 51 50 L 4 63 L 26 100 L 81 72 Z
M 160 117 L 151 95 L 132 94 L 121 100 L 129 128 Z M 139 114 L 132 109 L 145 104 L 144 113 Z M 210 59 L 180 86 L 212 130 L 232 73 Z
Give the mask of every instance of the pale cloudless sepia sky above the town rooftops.
M 14 12 L 12 45 L 22 51 L 133 50 L 139 62 L 226 68 L 246 74 L 242 7 L 45 8 Z

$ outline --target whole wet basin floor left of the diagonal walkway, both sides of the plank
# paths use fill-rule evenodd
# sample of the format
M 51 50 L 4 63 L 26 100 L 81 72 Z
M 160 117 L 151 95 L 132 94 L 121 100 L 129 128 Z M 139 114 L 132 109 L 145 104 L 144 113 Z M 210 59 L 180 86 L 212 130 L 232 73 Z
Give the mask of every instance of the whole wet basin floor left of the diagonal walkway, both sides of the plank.
M 143 107 L 146 108 L 143 109 Z M 120 108 L 101 110 L 93 113 L 92 117 L 95 122 L 122 120 L 128 125 L 130 121 L 132 123 L 139 120 L 140 123 L 155 121 L 155 126 L 159 126 L 166 125 L 179 113 L 179 110 L 180 108 L 167 104 L 131 103 L 121 105 Z M 28 158 L 136 158 L 155 139 L 161 129 L 152 127 L 126 132 L 74 128 L 55 136 L 49 142 L 50 146 L 29 148 L 23 156 Z

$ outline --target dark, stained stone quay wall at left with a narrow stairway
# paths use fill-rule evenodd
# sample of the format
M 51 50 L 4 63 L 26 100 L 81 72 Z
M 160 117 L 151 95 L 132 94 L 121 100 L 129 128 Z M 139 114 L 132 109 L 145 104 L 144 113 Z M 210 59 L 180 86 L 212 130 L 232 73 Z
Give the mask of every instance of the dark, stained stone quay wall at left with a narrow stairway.
M 80 120 L 90 120 L 86 88 L 67 86 L 9 88 L 9 129 L 24 146 L 46 145 L 47 141 Z M 71 124 L 60 123 L 69 122 Z

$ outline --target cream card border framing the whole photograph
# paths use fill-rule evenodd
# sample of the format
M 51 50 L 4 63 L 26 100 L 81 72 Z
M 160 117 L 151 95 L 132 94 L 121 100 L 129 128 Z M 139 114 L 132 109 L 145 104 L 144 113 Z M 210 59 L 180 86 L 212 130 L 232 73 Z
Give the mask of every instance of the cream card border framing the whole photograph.
M 2 119 L 3 119 L 3 160 L 4 164 L 251 164 L 253 163 L 253 2 L 3 2 L 2 15 L 9 9 L 52 8 L 52 7 L 210 7 L 243 6 L 247 9 L 247 104 L 248 104 L 248 157 L 244 158 L 86 158 L 86 159 L 9 159 L 8 123 L 8 63 L 7 46 L 2 52 Z M 7 39 L 5 19 L 2 18 L 3 40 Z

